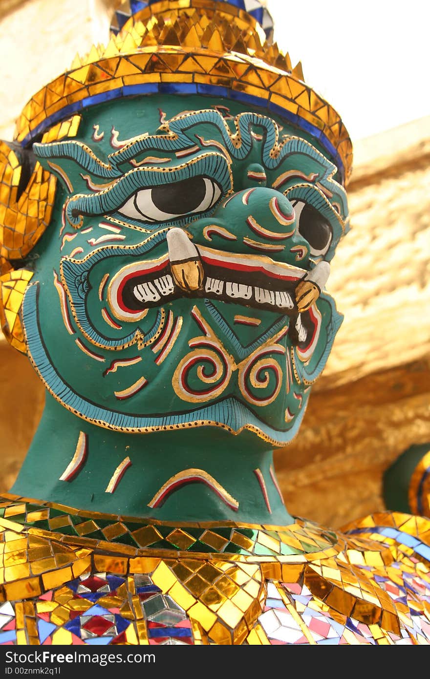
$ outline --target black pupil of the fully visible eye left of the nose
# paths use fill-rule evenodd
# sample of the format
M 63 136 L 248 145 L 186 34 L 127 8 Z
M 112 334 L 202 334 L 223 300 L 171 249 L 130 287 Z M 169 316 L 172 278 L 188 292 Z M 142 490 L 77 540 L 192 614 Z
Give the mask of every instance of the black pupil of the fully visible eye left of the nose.
M 185 215 L 192 212 L 200 205 L 205 195 L 206 183 L 203 177 L 154 186 L 151 191 L 154 205 L 170 215 Z

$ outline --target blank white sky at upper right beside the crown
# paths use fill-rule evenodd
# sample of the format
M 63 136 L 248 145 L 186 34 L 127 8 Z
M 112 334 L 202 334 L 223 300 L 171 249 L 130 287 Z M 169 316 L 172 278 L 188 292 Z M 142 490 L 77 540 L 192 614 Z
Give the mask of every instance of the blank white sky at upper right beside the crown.
M 274 39 L 353 141 L 430 114 L 430 2 L 268 0 Z M 430 130 L 429 130 L 430 132 Z

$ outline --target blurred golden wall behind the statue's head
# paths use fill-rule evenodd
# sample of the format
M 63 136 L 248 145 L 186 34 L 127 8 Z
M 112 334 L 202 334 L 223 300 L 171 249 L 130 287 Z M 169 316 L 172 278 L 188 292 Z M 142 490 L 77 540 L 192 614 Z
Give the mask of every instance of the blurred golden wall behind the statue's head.
M 105 41 L 112 4 L 0 0 L 0 138 L 12 138 L 26 100 L 76 52 Z M 430 116 L 355 143 L 353 229 L 327 285 L 345 320 L 297 439 L 274 456 L 295 515 L 337 527 L 382 509 L 384 470 L 412 443 L 430 441 L 429 161 Z M 0 394 L 3 492 L 44 401 L 26 358 L 3 339 Z

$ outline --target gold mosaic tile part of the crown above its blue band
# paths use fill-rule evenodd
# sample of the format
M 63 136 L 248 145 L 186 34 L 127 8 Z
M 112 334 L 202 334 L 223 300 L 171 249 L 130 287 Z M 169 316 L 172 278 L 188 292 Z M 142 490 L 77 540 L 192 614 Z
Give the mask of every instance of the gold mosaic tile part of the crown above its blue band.
M 300 63 L 293 69 L 288 54 L 262 43 L 249 14 L 235 16 L 227 7 L 213 12 L 207 4 L 183 0 L 166 10 L 157 5 L 156 14 L 150 7 L 137 12 L 106 48 L 93 47 L 64 77 L 33 96 L 18 120 L 16 138 L 22 141 L 46 117 L 88 96 L 143 82 L 200 82 L 299 113 L 338 148 L 348 178 L 352 145 L 339 115 L 304 84 Z

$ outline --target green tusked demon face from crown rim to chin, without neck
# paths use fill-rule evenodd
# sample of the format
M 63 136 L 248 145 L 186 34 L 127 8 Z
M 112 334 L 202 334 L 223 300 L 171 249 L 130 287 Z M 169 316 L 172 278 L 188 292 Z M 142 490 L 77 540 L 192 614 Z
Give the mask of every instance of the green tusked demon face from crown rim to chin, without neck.
M 298 429 L 341 322 L 323 292 L 346 196 L 321 151 L 222 101 L 124 99 L 35 143 L 58 178 L 22 304 L 31 361 L 80 417 L 130 433 Z

